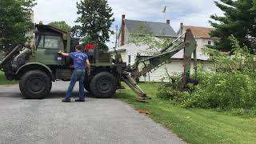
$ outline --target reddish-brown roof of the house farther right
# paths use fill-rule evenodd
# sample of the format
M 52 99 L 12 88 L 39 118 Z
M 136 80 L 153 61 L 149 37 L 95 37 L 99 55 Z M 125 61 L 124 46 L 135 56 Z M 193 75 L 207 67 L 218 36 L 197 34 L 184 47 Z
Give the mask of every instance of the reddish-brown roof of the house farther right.
M 202 38 L 210 38 L 210 32 L 214 30 L 214 28 L 207 27 L 197 27 L 197 26 L 184 26 L 184 29 L 190 29 L 194 35 L 194 37 L 202 37 Z

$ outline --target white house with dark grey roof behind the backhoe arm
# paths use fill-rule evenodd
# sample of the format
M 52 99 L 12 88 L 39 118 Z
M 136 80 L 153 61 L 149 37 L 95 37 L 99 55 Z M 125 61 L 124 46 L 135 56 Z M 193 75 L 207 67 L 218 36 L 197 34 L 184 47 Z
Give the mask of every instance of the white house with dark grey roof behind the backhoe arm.
M 149 46 L 142 45 L 136 46 L 130 41 L 130 34 L 136 31 L 139 24 L 144 23 L 149 26 L 150 30 L 153 32 L 156 38 L 178 38 L 178 34 L 175 33 L 174 29 L 170 26 L 170 20 L 165 22 L 145 22 L 145 21 L 135 21 L 125 18 L 122 15 L 122 26 L 118 34 L 118 53 L 122 55 L 122 60 L 127 62 L 127 65 L 133 65 L 138 54 L 144 57 L 150 57 L 156 54 L 155 50 L 148 49 Z M 210 64 L 208 64 L 208 59 L 206 55 L 198 51 L 198 63 L 205 66 L 206 70 L 210 69 Z M 153 73 L 148 73 L 140 78 L 142 82 L 161 82 L 163 77 L 166 77 L 166 71 L 169 74 L 181 74 L 184 70 L 183 67 L 183 50 L 174 54 L 172 58 L 169 59 L 168 63 L 164 64 Z

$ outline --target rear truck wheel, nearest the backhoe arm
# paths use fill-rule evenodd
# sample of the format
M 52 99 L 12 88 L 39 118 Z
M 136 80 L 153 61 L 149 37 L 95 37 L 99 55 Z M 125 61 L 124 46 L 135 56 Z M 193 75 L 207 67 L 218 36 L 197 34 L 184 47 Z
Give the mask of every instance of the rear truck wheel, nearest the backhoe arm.
M 116 89 L 116 79 L 108 72 L 96 74 L 90 81 L 90 93 L 96 98 L 111 98 Z

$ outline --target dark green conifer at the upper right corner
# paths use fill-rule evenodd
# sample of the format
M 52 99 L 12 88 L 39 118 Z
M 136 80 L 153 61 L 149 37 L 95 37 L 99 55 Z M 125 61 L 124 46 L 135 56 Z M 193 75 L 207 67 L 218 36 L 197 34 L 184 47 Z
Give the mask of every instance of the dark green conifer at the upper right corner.
M 211 32 L 212 37 L 218 37 L 214 49 L 232 51 L 230 35 L 238 39 L 241 47 L 246 45 L 250 53 L 255 53 L 256 46 L 256 1 L 254 0 L 220 0 L 215 2 L 223 12 L 224 16 L 211 15 L 214 21 L 210 21 L 215 30 Z

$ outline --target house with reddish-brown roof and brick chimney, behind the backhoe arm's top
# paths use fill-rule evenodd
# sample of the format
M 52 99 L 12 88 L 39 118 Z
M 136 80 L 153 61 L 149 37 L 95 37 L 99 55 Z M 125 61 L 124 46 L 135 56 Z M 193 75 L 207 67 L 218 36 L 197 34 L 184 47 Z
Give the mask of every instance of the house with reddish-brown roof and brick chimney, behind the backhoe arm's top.
M 182 35 L 186 32 L 187 29 L 190 29 L 194 35 L 195 40 L 198 42 L 197 50 L 201 51 L 202 48 L 206 46 L 213 46 L 214 41 L 218 41 L 218 38 L 211 38 L 210 32 L 214 30 L 214 28 L 207 27 L 198 27 L 198 26 L 184 26 L 183 23 L 180 25 L 180 29 L 178 30 L 178 36 Z

